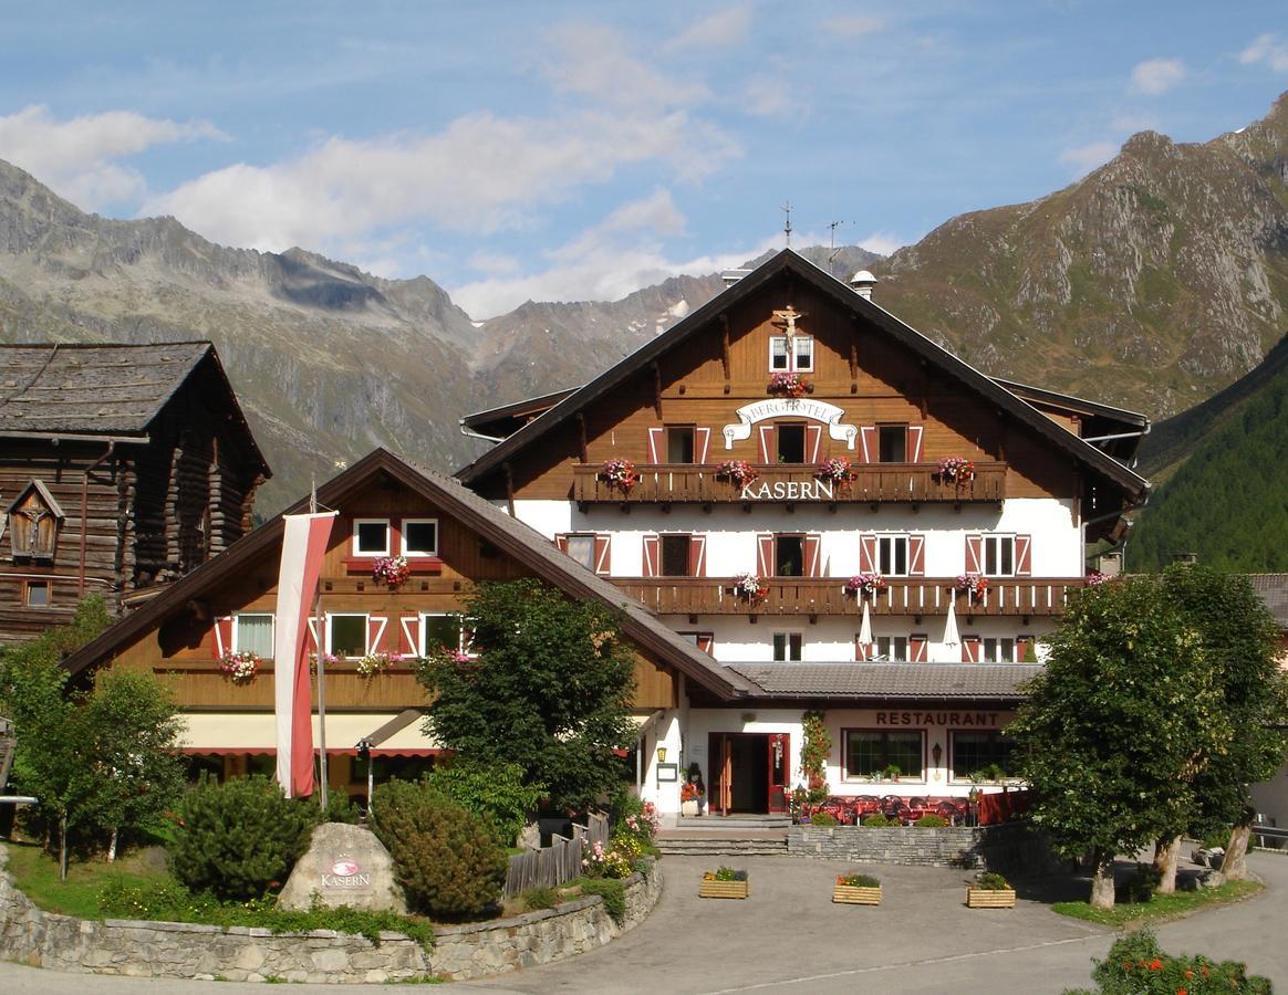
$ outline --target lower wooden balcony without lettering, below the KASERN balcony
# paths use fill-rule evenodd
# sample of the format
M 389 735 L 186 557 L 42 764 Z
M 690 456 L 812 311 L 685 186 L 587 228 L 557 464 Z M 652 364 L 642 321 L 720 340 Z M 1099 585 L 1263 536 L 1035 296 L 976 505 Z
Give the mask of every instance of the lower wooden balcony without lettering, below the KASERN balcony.
M 779 577 L 768 581 L 765 596 L 748 602 L 733 590 L 732 578 L 657 577 L 613 578 L 618 588 L 663 615 L 854 615 L 862 602 L 844 591 L 845 579 Z M 1066 599 L 1086 587 L 1084 578 L 1015 578 L 989 582 L 983 596 L 956 588 L 952 578 L 886 579 L 872 614 L 947 615 L 956 605 L 958 618 L 1052 617 L 1064 613 Z

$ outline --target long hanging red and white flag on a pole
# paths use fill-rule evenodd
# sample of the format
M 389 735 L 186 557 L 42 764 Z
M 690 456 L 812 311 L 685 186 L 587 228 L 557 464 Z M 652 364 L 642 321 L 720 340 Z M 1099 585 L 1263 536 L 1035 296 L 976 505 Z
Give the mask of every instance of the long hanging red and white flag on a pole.
M 309 680 L 309 609 L 335 512 L 286 515 L 277 574 L 277 783 L 287 798 L 313 794 L 313 683 Z

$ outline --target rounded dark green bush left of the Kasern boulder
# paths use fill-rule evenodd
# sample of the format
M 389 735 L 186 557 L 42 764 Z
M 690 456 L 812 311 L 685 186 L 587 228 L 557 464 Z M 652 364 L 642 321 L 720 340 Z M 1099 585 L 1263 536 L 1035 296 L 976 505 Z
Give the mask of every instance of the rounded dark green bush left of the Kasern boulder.
M 175 877 L 189 891 L 237 900 L 285 884 L 318 821 L 313 802 L 283 798 L 261 775 L 224 784 L 202 776 L 178 815 L 170 844 Z

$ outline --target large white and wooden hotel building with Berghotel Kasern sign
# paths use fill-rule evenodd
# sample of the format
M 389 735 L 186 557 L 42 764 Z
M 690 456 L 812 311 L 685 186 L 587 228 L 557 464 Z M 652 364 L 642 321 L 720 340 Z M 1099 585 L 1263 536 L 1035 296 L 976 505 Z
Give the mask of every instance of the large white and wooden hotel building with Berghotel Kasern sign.
M 784 250 L 585 386 L 462 420 L 496 440 L 469 488 L 753 686 L 658 723 L 723 812 L 784 808 L 806 708 L 838 794 L 1006 767 L 1086 543 L 1148 493 L 1144 416 L 984 376 L 869 286 Z

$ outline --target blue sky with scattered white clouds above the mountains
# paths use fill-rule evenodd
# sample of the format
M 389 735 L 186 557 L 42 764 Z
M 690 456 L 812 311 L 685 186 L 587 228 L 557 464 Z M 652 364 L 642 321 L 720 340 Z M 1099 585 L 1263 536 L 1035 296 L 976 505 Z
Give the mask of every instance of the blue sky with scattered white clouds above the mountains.
M 963 9 L 963 8 L 969 8 Z M 890 250 L 1141 129 L 1199 142 L 1288 90 L 1282 3 L 0 6 L 0 158 L 429 275 L 475 318 L 616 299 L 783 242 Z

